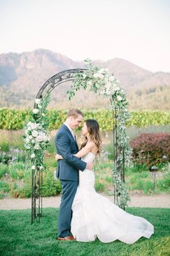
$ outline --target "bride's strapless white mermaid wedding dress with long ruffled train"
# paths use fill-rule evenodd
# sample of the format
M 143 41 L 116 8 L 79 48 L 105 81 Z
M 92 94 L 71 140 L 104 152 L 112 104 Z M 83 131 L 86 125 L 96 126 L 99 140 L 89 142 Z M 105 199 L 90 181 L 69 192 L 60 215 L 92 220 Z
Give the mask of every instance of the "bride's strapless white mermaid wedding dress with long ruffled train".
M 83 161 L 91 162 L 95 155 L 87 153 Z M 94 172 L 79 171 L 79 187 L 73 200 L 71 233 L 77 241 L 91 242 L 98 238 L 101 242 L 119 239 L 132 244 L 141 236 L 150 238 L 153 225 L 145 218 L 126 213 L 94 189 Z

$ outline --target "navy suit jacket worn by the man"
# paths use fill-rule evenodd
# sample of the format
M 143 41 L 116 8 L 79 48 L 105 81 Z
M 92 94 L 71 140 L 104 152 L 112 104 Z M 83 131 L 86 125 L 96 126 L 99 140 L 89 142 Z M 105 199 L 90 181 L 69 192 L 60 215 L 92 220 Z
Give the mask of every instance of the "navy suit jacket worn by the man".
M 63 124 L 55 135 L 55 146 L 63 159 L 58 161 L 56 177 L 70 181 L 79 181 L 79 170 L 84 171 L 86 163 L 73 154 L 79 151 L 78 145 L 68 127 Z

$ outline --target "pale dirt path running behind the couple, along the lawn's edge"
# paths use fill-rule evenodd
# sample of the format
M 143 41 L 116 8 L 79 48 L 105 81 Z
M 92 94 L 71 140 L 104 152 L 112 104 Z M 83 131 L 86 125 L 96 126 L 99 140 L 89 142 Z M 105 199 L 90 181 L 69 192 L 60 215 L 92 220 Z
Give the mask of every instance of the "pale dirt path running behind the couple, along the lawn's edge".
M 113 197 L 108 197 L 113 202 Z M 61 197 L 43 197 L 43 208 L 59 208 Z M 130 207 L 170 208 L 169 195 L 131 195 Z M 31 208 L 31 198 L 4 198 L 0 200 L 0 210 L 18 210 Z

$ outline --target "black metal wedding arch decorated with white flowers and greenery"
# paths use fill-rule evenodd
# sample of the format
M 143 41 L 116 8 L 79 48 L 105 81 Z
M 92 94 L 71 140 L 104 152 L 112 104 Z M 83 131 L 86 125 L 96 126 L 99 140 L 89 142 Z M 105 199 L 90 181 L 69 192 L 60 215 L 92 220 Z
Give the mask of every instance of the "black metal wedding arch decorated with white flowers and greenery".
M 125 89 L 108 69 L 94 66 L 86 59 L 87 69 L 68 69 L 50 77 L 40 88 L 35 98 L 34 109 L 30 121 L 25 127 L 24 146 L 27 156 L 32 163 L 32 219 L 31 223 L 42 216 L 42 173 L 46 170 L 44 150 L 48 147 L 48 119 L 47 106 L 51 92 L 63 82 L 72 81 L 69 99 L 73 98 L 77 90 L 90 88 L 98 95 L 109 98 L 112 111 L 113 137 L 113 166 L 112 177 L 114 184 L 114 202 L 125 209 L 130 197 L 125 187 L 125 166 L 130 162 L 132 153 L 129 137 L 126 133 L 125 122 L 128 113 L 128 101 Z

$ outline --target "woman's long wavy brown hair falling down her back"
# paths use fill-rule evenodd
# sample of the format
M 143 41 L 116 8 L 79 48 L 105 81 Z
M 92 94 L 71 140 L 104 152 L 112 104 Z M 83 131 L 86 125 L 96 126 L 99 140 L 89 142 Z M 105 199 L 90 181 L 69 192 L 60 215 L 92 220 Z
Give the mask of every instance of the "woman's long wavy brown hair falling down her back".
M 99 124 L 94 119 L 86 119 L 85 122 L 89 132 L 90 139 L 95 143 L 95 145 L 97 145 L 97 148 L 98 148 L 97 153 L 100 153 L 102 140 L 99 134 Z M 85 137 L 85 140 L 81 145 L 81 148 L 84 148 L 86 143 L 87 143 L 87 137 Z

